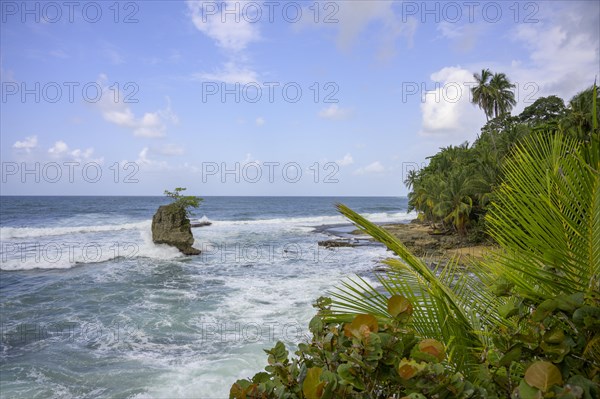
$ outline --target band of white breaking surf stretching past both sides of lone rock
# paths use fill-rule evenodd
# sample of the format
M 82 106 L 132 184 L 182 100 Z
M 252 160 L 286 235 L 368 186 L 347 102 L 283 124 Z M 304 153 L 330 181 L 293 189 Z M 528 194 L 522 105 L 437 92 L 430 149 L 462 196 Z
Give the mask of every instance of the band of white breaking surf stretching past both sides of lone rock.
M 372 213 L 364 216 L 373 222 L 403 222 L 415 217 L 412 213 Z M 202 221 L 209 221 L 203 216 Z M 272 233 L 277 237 L 280 230 L 285 231 L 309 231 L 310 226 L 321 226 L 328 224 L 349 223 L 341 215 L 336 216 L 313 216 L 313 217 L 291 217 L 258 219 L 248 221 L 212 221 L 213 225 L 200 230 L 195 230 L 197 237 L 196 245 L 202 247 L 200 237 L 210 237 L 213 240 L 239 239 L 240 234 L 246 236 L 251 232 L 260 234 L 259 241 L 265 237 L 264 233 Z M 1 270 L 31 270 L 31 269 L 68 269 L 79 264 L 99 263 L 121 258 L 130 259 L 134 257 L 145 257 L 152 259 L 175 259 L 183 255 L 174 247 L 165 244 L 154 244 L 152 242 L 151 221 L 145 220 L 135 223 L 123 223 L 116 225 L 91 225 L 74 227 L 2 227 L 0 238 L 4 241 L 0 253 L 2 262 Z M 100 238 L 98 234 L 103 234 Z M 75 236 L 79 234 L 94 234 L 94 239 L 89 242 L 80 239 L 80 247 L 69 248 L 69 243 L 61 243 L 57 239 L 61 236 Z M 120 234 L 119 240 L 115 234 Z M 123 236 L 126 234 L 126 236 Z M 80 238 L 81 238 L 80 237 Z M 126 237 L 126 238 L 123 238 Z M 32 241 L 35 244 L 21 243 L 18 240 Z M 92 242 L 93 241 L 93 242 Z M 93 244 L 93 252 L 83 252 L 83 242 Z M 115 245 L 128 247 L 115 248 Z M 37 245 L 37 247 L 36 247 Z M 62 247 L 61 247 L 62 245 Z M 47 248 L 50 247 L 50 250 Z M 41 248 L 41 249 L 40 249 Z M 62 252 L 57 254 L 57 251 Z M 37 252 L 36 252 L 37 251 Z M 44 252 L 45 251 L 45 252 Z M 95 251 L 95 252 L 94 252 Z

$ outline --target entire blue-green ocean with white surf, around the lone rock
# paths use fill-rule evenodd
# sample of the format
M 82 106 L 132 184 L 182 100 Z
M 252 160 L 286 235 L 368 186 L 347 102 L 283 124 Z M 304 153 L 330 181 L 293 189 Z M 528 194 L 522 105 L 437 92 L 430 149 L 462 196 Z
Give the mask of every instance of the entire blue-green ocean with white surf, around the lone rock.
M 227 398 L 308 339 L 314 301 L 389 256 L 325 249 L 342 202 L 403 222 L 402 197 L 206 197 L 202 254 L 155 245 L 165 197 L 0 197 L 1 398 Z

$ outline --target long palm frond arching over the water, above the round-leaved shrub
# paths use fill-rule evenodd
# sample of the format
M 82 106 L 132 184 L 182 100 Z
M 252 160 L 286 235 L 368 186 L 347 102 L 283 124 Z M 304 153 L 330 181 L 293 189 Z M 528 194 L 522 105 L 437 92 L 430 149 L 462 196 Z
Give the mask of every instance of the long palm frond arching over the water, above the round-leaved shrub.
M 370 313 L 391 318 L 387 298 L 402 295 L 413 305 L 411 326 L 422 337 L 435 338 L 448 345 L 450 362 L 474 376 L 477 359 L 486 346 L 482 340 L 487 325 L 497 322 L 495 308 L 499 301 L 483 289 L 481 280 L 464 273 L 457 260 L 444 267 L 430 270 L 419 258 L 389 232 L 369 222 L 348 207 L 339 204 L 338 210 L 361 230 L 386 245 L 400 259 L 384 261 L 390 270 L 378 275 L 382 288 L 376 288 L 357 277 L 342 283 L 334 298 L 332 319 L 349 321 L 352 314 Z

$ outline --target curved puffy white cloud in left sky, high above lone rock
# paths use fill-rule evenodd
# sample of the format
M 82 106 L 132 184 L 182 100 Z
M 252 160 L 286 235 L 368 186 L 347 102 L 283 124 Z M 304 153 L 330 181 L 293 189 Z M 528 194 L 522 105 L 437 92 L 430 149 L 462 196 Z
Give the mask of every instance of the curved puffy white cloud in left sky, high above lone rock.
M 171 109 L 171 100 L 167 97 L 167 107 L 155 112 L 146 112 L 137 118 L 131 108 L 122 102 L 115 101 L 124 99 L 122 93 L 115 93 L 104 85 L 106 75 L 100 75 L 100 84 L 103 86 L 102 98 L 96 103 L 100 108 L 102 116 L 108 122 L 117 126 L 131 129 L 134 136 L 138 137 L 164 137 L 166 135 L 166 122 L 178 123 L 178 117 Z

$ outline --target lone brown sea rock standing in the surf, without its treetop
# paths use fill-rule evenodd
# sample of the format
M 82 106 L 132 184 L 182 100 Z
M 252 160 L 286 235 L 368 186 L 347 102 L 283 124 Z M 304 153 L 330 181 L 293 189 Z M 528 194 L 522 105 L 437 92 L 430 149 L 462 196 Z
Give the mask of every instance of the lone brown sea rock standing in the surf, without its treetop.
M 158 208 L 152 218 L 152 241 L 155 244 L 168 244 L 185 255 L 198 255 L 200 250 L 192 247 L 194 236 L 185 209 L 175 204 Z

